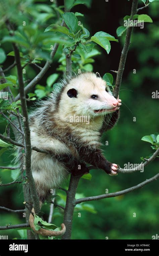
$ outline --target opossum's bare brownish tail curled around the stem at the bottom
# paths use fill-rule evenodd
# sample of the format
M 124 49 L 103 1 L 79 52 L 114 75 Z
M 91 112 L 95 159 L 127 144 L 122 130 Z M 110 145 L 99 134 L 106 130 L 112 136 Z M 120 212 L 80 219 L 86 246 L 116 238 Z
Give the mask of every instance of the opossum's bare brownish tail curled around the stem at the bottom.
M 40 202 L 40 207 L 41 206 L 42 206 L 42 202 Z M 34 208 L 32 209 L 32 212 L 35 213 Z M 44 235 L 44 236 L 63 235 L 66 231 L 66 227 L 65 227 L 64 223 L 61 224 L 61 230 L 60 231 L 51 231 L 51 230 L 44 229 L 44 228 L 40 228 L 39 230 L 35 230 L 34 216 L 32 215 L 32 213 L 30 214 L 30 217 L 29 217 L 29 224 L 30 224 L 31 228 L 33 229 L 33 231 L 35 233 L 40 234 L 40 235 Z

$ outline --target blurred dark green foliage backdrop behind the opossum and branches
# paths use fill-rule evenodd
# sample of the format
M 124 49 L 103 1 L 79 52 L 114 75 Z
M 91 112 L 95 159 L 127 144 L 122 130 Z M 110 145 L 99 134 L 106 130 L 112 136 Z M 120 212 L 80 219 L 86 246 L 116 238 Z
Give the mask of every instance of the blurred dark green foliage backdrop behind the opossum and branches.
M 3 2 L 3 1 L 2 1 Z M 83 23 L 91 35 L 98 31 L 107 32 L 119 42 L 111 43 L 111 51 L 109 55 L 100 46 L 95 46 L 94 62 L 84 61 L 79 63 L 74 60 L 73 70 L 76 71 L 79 67 L 85 67 L 84 70 L 92 69 L 94 72 L 99 72 L 101 76 L 110 70 L 117 70 L 122 46 L 125 39 L 125 33 L 121 37 L 117 37 L 116 29 L 123 25 L 123 17 L 130 14 L 131 2 L 124 0 L 112 0 L 109 2 L 103 1 L 88 1 L 86 5 L 77 5 L 73 7 L 73 12 L 80 12 L 85 17 L 79 16 L 78 20 Z M 90 3 L 90 6 L 89 6 Z M 22 5 L 23 4 L 23 5 Z M 14 1 L 8 5 L 10 19 L 14 21 L 15 28 L 22 21 L 27 21 L 30 31 L 34 28 L 38 30 L 38 34 L 43 33 L 45 28 L 52 23 L 57 23 L 57 13 L 53 8 L 53 15 L 46 15 L 46 6 L 39 7 L 40 4 L 45 4 L 48 7 L 52 5 L 49 1 Z M 22 11 L 25 9 L 26 11 Z M 63 5 L 62 1 L 58 1 L 58 6 Z M 139 1 L 139 7 L 144 4 Z M 113 130 L 107 132 L 102 137 L 104 154 L 111 162 L 119 164 L 123 167 L 125 163 L 140 163 L 140 157 L 146 157 L 153 152 L 149 143 L 141 140 L 145 135 L 150 135 L 158 132 L 158 99 L 152 99 L 152 92 L 155 92 L 158 87 L 159 80 L 159 20 L 158 20 L 159 2 L 152 2 L 148 8 L 140 11 L 140 14 L 148 14 L 151 16 L 153 23 L 144 23 L 144 29 L 135 28 L 131 39 L 125 70 L 123 74 L 122 84 L 120 88 L 120 99 L 122 100 L 121 115 L 118 124 Z M 48 10 L 49 12 L 49 10 Z M 2 20 L 0 22 L 1 39 L 8 34 L 4 25 L 4 13 L 1 11 Z M 41 14 L 41 16 L 40 16 Z M 50 14 L 50 12 L 49 12 Z M 58 15 L 60 13 L 58 12 Z M 16 18 L 17 17 L 17 18 Z M 33 30 L 34 32 L 34 30 Z M 48 32 L 48 36 L 51 34 Z M 28 35 L 30 38 L 30 35 Z M 41 39 L 41 41 L 43 38 Z M 38 54 L 38 57 L 43 59 L 39 65 L 43 66 L 45 59 L 49 56 L 48 44 L 34 45 L 37 49 L 31 49 L 30 56 Z M 3 48 L 8 54 L 12 51 L 12 45 L 8 41 L 1 42 Z M 44 49 L 42 54 L 40 47 Z M 25 49 L 21 46 L 21 51 L 25 54 Z M 78 49 L 77 49 L 77 53 Z M 61 62 L 58 60 L 61 58 Z M 83 57 L 84 58 L 84 57 Z M 58 48 L 51 68 L 40 80 L 39 84 L 46 85 L 47 78 L 57 73 L 59 77 L 64 71 L 64 55 L 62 55 L 62 45 Z M 12 56 L 8 56 L 3 64 L 3 69 L 6 69 L 14 61 Z M 24 63 L 26 60 L 23 60 Z M 60 67 L 59 67 L 60 64 Z M 85 66 L 89 64 L 89 66 Z M 81 65 L 81 66 L 80 66 Z M 90 66 L 91 65 L 91 66 Z M 93 65 L 93 66 L 92 66 Z M 136 69 L 136 74 L 133 70 Z M 28 65 L 24 80 L 32 79 L 39 70 Z M 6 76 L 16 75 L 16 68 L 5 73 Z M 115 79 L 115 74 L 113 73 Z M 52 86 L 52 85 L 51 85 Z M 39 89 L 37 87 L 36 89 Z M 43 87 L 42 89 L 45 90 Z M 51 87 L 52 88 L 52 87 Z M 17 88 L 12 87 L 14 95 L 17 94 Z M 49 89 L 50 92 L 50 89 Z M 34 93 L 34 89 L 32 90 Z M 38 94 L 39 93 L 39 94 Z M 44 97 L 37 92 L 40 98 Z M 44 96 L 47 93 L 44 93 Z M 28 107 L 34 106 L 34 101 L 28 101 Z M 136 121 L 133 121 L 136 117 Z M 5 132 L 5 122 L 1 122 L 1 133 Z M 12 135 L 13 137 L 13 135 Z M 108 141 L 109 145 L 105 146 Z M 11 150 L 7 150 L 0 157 L 1 166 L 11 165 L 13 159 Z M 81 179 L 77 189 L 77 198 L 83 196 L 93 196 L 105 194 L 106 189 L 109 193 L 123 190 L 125 188 L 137 185 L 138 183 L 151 178 L 158 172 L 157 159 L 155 159 L 144 172 L 136 172 L 133 174 L 118 174 L 116 177 L 106 175 L 102 170 L 92 170 L 92 180 Z M 0 170 L 2 183 L 8 183 L 15 178 L 15 172 L 10 170 Z M 68 180 L 63 186 L 67 187 Z M 23 209 L 23 194 L 21 185 L 12 185 L 0 188 L 0 206 L 5 206 L 10 209 Z M 65 194 L 58 191 L 56 202 L 64 205 Z M 49 204 L 45 204 L 42 209 L 45 212 L 47 220 L 49 214 Z M 79 216 L 81 213 L 81 217 Z M 136 217 L 133 214 L 136 213 Z M 158 197 L 158 181 L 146 185 L 142 189 L 131 193 L 102 199 L 96 202 L 91 202 L 84 205 L 78 205 L 75 208 L 73 216 L 72 239 L 152 239 L 152 235 L 158 233 L 158 214 L 159 214 L 159 197 Z M 63 211 L 55 208 L 52 223 L 60 225 L 62 223 Z M 24 223 L 24 218 L 21 214 L 8 213 L 0 210 L 0 225 L 8 223 L 17 224 Z M 0 231 L 0 235 L 8 235 L 9 239 L 26 238 L 25 232 L 16 230 Z

